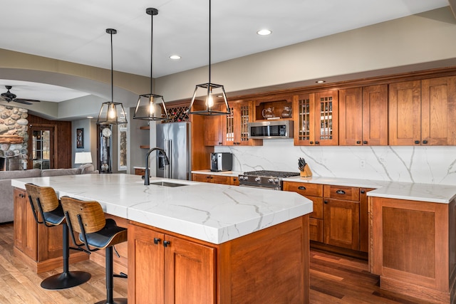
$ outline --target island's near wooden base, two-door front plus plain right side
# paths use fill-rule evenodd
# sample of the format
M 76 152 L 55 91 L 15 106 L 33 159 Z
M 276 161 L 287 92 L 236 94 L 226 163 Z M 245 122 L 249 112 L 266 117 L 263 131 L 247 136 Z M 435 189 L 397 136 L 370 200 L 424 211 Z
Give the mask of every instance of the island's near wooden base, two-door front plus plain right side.
M 212 244 L 128 225 L 128 303 L 309 303 L 309 216 Z

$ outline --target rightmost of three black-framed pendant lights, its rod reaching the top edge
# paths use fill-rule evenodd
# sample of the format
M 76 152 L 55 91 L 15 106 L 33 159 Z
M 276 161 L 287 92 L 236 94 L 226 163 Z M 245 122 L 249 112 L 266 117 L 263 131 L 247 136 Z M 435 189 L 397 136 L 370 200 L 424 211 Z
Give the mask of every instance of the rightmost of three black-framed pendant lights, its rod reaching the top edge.
M 203 103 L 202 100 L 195 99 L 197 97 L 197 90 L 202 88 L 206 93 L 206 100 L 203 105 L 198 106 L 199 103 Z M 222 110 L 214 110 L 214 98 L 213 95 L 222 95 L 224 100 L 224 108 Z M 192 108 L 195 106 L 195 110 Z M 204 109 L 204 110 L 200 110 Z M 229 115 L 231 110 L 229 109 L 227 94 L 223 88 L 223 85 L 216 85 L 211 83 L 211 0 L 209 0 L 209 82 L 196 85 L 195 92 L 193 93 L 192 102 L 187 110 L 189 114 L 198 115 Z

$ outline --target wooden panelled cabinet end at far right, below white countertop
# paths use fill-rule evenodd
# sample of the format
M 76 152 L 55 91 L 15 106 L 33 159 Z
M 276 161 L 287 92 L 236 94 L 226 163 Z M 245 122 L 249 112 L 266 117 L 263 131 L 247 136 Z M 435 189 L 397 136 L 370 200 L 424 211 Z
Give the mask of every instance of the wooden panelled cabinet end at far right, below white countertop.
M 455 283 L 455 201 L 373 197 L 372 271 L 380 287 L 450 303 Z

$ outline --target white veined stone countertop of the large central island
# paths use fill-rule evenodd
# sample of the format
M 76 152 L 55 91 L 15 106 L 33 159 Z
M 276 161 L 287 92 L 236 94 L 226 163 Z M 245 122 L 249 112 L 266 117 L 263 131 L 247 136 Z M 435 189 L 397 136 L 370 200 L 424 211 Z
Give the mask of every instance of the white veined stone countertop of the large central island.
M 53 187 L 58 196 L 95 200 L 108 214 L 210 243 L 224 243 L 312 212 L 312 201 L 294 192 L 150 178 L 182 187 L 144 185 L 139 175 L 81 174 L 12 179 Z

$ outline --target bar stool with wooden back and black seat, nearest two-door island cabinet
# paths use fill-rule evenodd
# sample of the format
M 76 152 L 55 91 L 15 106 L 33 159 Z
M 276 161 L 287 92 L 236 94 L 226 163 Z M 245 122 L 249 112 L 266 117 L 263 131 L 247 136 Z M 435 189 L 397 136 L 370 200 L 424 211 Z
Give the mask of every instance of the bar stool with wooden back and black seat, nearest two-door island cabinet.
M 79 244 L 73 236 L 73 243 L 87 251 L 98 251 L 105 248 L 106 263 L 106 300 L 102 303 L 127 303 L 125 298 L 113 299 L 113 246 L 127 241 L 127 229 L 117 226 L 113 219 L 106 219 L 103 209 L 98 201 L 81 201 L 68 196 L 61 197 L 66 222 L 71 232 L 79 234 Z M 120 275 L 126 278 L 125 274 Z

